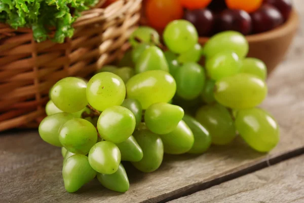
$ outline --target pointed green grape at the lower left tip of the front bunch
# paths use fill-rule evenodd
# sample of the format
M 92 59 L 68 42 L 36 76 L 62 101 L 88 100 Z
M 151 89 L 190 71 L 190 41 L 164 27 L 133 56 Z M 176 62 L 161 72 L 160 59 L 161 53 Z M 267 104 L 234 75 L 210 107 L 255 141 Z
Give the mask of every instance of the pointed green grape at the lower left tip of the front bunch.
M 88 157 L 81 154 L 70 156 L 63 164 L 62 177 L 65 190 L 75 192 L 93 180 L 96 172 L 90 166 Z

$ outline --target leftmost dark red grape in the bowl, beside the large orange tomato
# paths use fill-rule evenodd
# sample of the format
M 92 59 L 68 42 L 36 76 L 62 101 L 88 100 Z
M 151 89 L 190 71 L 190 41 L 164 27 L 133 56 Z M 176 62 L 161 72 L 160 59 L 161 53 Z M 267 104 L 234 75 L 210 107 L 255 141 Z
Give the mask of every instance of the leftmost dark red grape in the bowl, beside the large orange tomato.
M 201 37 L 209 36 L 213 30 L 214 16 L 209 9 L 188 10 L 183 18 L 194 24 Z

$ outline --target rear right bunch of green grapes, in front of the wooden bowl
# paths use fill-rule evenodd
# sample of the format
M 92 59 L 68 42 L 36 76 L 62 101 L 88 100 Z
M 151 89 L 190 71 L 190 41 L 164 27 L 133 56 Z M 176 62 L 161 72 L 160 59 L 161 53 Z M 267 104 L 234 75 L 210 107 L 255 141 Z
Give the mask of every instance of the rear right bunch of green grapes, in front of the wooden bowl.
M 147 27 L 139 27 L 133 33 L 130 40 L 133 46 L 130 60 L 135 67 L 135 73 L 142 74 L 151 70 L 169 72 L 176 82 L 172 104 L 182 107 L 188 115 L 194 116 L 193 122 L 199 123 L 205 129 L 213 144 L 230 144 L 238 132 L 257 151 L 268 152 L 277 145 L 277 122 L 268 112 L 257 108 L 268 92 L 265 83 L 267 67 L 259 59 L 246 58 L 249 45 L 241 33 L 218 33 L 202 47 L 195 27 L 188 21 L 175 20 L 163 32 L 163 40 L 168 48 L 165 52 L 157 47 L 160 37 L 156 36 L 157 32 Z M 201 60 L 202 58 L 205 60 Z M 133 94 L 129 96 L 140 99 Z M 146 110 L 145 119 L 151 114 L 152 107 Z M 154 110 L 155 115 L 160 115 L 158 112 Z M 184 116 L 186 120 L 188 115 Z M 170 145 L 173 139 L 178 140 L 177 129 L 185 129 L 181 127 L 182 123 L 169 133 L 172 138 L 168 135 L 162 136 L 162 131 L 158 131 L 161 128 L 157 126 L 158 130 L 155 130 L 149 120 L 146 119 L 145 124 L 151 131 L 161 134 L 165 152 L 183 153 L 182 146 L 178 146 L 177 150 Z M 204 134 L 203 131 L 200 134 Z M 195 139 L 195 144 L 197 140 Z M 186 139 L 182 143 L 186 144 Z M 199 145 L 202 146 L 202 143 L 208 146 L 207 141 L 199 142 Z

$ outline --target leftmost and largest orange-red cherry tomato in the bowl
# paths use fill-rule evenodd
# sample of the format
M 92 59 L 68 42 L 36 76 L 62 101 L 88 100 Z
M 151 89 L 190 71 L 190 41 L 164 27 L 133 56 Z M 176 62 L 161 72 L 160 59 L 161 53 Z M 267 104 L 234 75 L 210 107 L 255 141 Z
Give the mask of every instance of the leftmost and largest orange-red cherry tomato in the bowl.
M 181 19 L 183 9 L 176 0 L 148 0 L 145 5 L 145 13 L 151 26 L 163 29 L 169 22 Z

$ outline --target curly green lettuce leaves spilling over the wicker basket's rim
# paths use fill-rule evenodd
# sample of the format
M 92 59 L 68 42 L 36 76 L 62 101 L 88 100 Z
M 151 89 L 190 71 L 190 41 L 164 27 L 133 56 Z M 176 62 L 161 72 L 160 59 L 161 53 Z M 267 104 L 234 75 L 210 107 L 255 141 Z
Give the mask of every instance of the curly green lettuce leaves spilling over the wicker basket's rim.
M 73 35 L 72 23 L 80 12 L 98 0 L 1 0 L 0 22 L 11 27 L 30 27 L 37 42 L 51 39 L 63 43 Z M 50 35 L 55 28 L 55 35 Z

